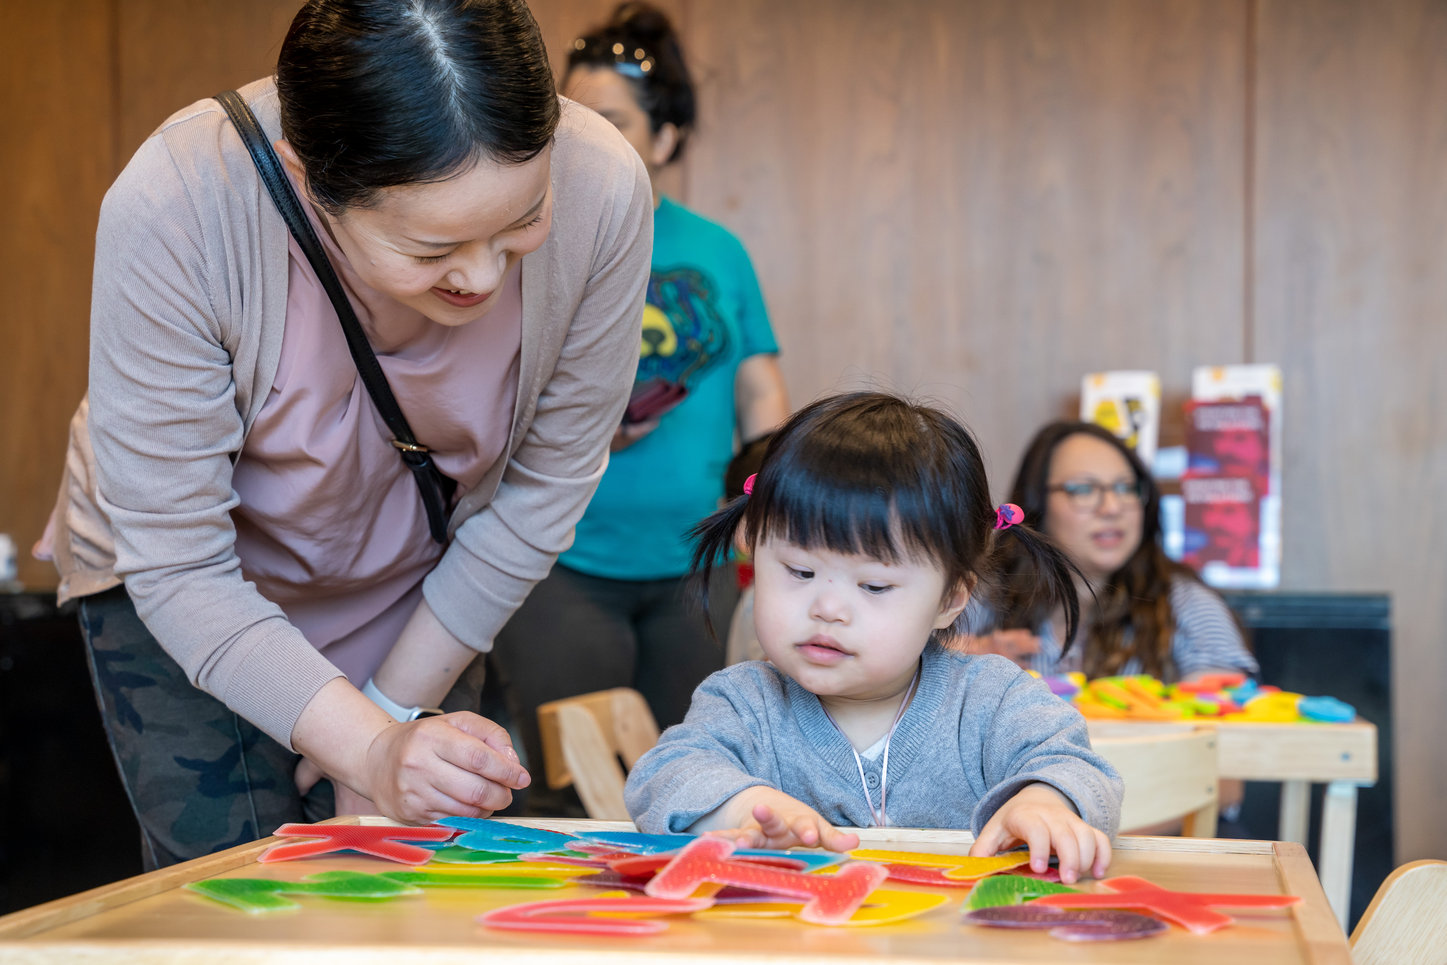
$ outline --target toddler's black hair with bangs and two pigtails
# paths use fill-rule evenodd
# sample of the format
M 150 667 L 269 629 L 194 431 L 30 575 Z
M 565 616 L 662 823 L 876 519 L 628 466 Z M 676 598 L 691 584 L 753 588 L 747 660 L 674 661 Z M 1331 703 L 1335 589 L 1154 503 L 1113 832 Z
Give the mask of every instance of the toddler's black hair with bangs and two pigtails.
M 1074 635 L 1079 603 L 1069 560 L 1029 527 L 994 530 L 996 518 L 969 430 L 896 395 L 835 395 L 774 434 L 751 496 L 693 527 L 693 589 L 708 615 L 709 576 L 739 531 L 750 545 L 777 534 L 806 548 L 928 558 L 943 570 L 946 596 L 961 586 L 974 590 L 1013 544 L 1035 563 L 1032 605 L 1064 606 Z M 936 637 L 945 642 L 959 625 Z

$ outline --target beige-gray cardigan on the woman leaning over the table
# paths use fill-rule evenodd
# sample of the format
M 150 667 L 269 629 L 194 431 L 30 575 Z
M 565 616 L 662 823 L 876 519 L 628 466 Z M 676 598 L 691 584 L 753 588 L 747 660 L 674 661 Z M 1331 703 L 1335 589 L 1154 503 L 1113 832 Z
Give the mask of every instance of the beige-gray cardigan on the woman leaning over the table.
M 242 95 L 278 139 L 275 82 Z M 423 586 L 443 625 L 479 651 L 572 543 L 638 359 L 648 174 L 612 124 L 561 107 L 553 229 L 522 259 L 511 438 L 463 493 Z M 230 516 L 232 463 L 281 356 L 287 281 L 287 226 L 220 104 L 169 117 L 101 205 L 88 440 L 71 440 L 94 457 L 67 460 L 56 560 L 82 592 L 123 579 L 191 683 L 289 747 L 302 707 L 340 671 L 243 579 Z M 90 464 L 94 477 L 77 479 Z M 88 573 L 65 573 L 67 561 Z

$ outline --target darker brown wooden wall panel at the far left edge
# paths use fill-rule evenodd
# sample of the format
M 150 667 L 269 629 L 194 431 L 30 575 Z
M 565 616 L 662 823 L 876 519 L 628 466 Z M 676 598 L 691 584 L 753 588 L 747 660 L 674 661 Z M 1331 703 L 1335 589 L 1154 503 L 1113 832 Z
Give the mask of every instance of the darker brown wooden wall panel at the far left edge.
M 0 532 L 20 579 L 55 503 L 65 428 L 85 392 L 91 252 L 111 178 L 111 3 L 0 4 Z

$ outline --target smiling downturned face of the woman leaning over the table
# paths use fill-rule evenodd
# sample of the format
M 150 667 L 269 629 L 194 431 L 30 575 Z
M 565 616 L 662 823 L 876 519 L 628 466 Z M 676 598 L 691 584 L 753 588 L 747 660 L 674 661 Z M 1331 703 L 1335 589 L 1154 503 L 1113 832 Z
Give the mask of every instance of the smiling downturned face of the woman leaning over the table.
M 300 184 L 287 142 L 276 150 Z M 368 207 L 320 211 L 352 269 L 441 326 L 488 314 L 508 271 L 553 224 L 551 149 L 522 163 L 480 158 L 444 181 L 378 191 Z

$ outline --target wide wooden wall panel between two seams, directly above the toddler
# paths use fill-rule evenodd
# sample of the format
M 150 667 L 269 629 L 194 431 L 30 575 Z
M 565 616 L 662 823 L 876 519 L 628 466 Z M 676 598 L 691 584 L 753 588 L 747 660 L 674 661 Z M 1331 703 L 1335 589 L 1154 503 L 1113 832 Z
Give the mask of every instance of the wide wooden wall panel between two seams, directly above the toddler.
M 1240 360 L 1244 13 L 690 0 L 689 201 L 752 253 L 793 396 L 939 398 L 1003 492 L 1084 372 Z

